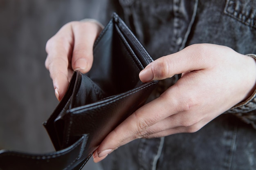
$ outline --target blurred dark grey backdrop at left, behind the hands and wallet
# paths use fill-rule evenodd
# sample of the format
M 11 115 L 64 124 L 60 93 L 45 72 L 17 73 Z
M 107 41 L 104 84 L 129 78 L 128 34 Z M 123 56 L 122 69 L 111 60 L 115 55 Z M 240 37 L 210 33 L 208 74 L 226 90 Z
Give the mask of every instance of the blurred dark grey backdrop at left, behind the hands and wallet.
M 58 104 L 45 44 L 67 22 L 104 17 L 104 2 L 0 0 L 0 149 L 54 150 L 42 125 Z M 99 165 L 90 159 L 83 169 Z

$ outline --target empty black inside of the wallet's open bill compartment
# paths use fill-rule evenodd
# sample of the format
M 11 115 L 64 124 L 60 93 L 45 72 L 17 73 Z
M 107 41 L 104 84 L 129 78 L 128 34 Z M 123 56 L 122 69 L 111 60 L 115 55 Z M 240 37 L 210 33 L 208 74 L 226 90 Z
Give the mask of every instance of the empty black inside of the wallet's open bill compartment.
M 142 82 L 139 72 L 146 65 L 139 61 L 119 27 L 110 24 L 95 42 L 93 65 L 85 74 L 88 85 L 83 84 L 85 87 L 72 95 L 78 98 L 87 97 L 85 101 L 73 100 L 71 107 L 97 102 L 140 86 Z

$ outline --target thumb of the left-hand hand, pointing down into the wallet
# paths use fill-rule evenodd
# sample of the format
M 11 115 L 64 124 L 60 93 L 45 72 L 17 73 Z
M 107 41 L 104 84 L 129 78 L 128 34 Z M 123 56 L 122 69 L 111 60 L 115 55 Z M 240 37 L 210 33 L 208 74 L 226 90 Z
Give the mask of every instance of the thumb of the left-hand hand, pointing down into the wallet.
M 72 24 L 74 32 L 74 50 L 72 54 L 72 68 L 74 71 L 86 73 L 93 61 L 93 45 L 102 30 L 95 22 L 77 22 Z

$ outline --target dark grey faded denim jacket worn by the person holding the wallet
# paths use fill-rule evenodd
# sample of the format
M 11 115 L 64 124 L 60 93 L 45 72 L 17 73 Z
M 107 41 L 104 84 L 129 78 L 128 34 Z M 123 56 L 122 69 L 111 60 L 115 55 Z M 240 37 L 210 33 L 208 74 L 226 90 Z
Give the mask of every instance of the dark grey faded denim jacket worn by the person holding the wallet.
M 256 0 L 119 0 L 108 7 L 107 16 L 112 11 L 122 16 L 154 59 L 195 43 L 256 54 Z M 160 83 L 155 96 L 176 80 Z M 255 96 L 198 132 L 132 141 L 112 152 L 103 169 L 255 170 Z

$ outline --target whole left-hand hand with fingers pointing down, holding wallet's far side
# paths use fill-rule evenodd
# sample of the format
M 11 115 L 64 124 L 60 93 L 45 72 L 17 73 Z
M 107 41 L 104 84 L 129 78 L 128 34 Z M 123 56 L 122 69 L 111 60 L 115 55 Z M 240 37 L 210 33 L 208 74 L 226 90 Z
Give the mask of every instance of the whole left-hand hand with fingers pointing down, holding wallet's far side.
M 103 28 L 97 22 L 69 22 L 47 41 L 45 67 L 61 100 L 73 71 L 86 73 L 93 61 L 93 44 Z

